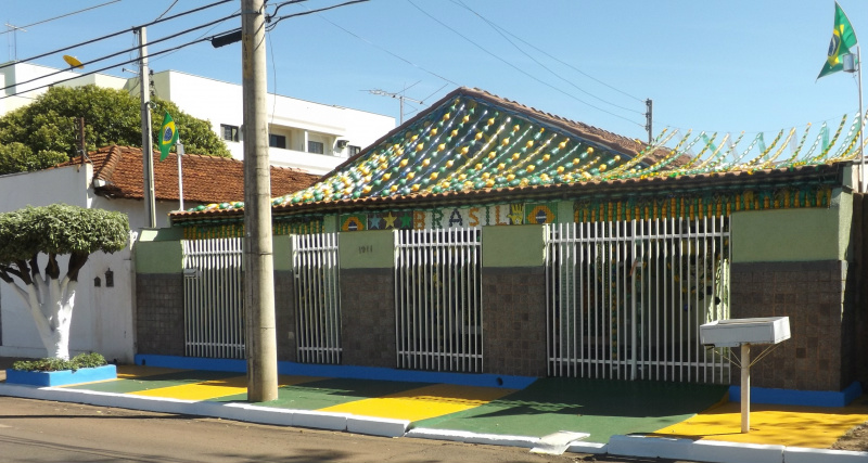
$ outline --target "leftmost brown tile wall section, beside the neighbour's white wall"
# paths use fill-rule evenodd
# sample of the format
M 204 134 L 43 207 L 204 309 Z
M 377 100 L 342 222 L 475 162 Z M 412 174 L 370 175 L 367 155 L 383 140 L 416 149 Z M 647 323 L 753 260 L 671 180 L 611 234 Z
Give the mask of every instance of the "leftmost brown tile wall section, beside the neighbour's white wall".
M 137 353 L 183 356 L 183 275 L 136 275 Z

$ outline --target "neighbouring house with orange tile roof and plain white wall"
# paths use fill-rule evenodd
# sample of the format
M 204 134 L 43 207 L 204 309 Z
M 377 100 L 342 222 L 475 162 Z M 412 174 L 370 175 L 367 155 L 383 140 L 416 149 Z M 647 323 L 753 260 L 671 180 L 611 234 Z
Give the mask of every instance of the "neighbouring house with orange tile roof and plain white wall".
M 243 163 L 237 159 L 186 155 L 182 160 L 184 205 L 237 203 L 244 198 Z M 317 180 L 297 169 L 271 168 L 273 192 L 291 193 Z M 0 211 L 28 205 L 65 203 L 122 211 L 129 216 L 130 247 L 91 256 L 79 274 L 71 350 L 98 351 L 131 362 L 136 352 L 135 274 L 131 247 L 146 227 L 142 202 L 143 167 L 138 147 L 106 146 L 54 168 L 0 176 Z M 177 155 L 154 163 L 156 214 L 159 223 L 177 210 Z M 43 357 L 29 312 L 11 288 L 0 285 L 0 356 Z

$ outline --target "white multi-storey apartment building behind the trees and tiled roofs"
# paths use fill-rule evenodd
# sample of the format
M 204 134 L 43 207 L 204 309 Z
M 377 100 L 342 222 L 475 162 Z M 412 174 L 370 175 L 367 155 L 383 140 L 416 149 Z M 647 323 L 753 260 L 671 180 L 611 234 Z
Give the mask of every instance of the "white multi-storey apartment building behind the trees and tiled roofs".
M 0 64 L 0 83 L 8 87 L 0 91 L 0 115 L 28 104 L 46 91 L 43 86 L 69 78 L 73 79 L 58 85 L 95 83 L 127 89 L 136 95 L 139 93 L 138 77 L 127 79 L 104 74 L 76 75 L 74 72 L 30 63 Z M 28 82 L 31 79 L 35 80 Z M 174 102 L 191 116 L 209 120 L 212 129 L 224 139 L 232 157 L 243 159 L 240 85 L 177 70 L 155 73 L 151 79 L 154 95 Z M 365 111 L 275 94 L 268 94 L 267 101 L 268 156 L 272 166 L 324 175 L 395 128 L 394 117 Z M 182 128 L 180 136 L 183 141 Z

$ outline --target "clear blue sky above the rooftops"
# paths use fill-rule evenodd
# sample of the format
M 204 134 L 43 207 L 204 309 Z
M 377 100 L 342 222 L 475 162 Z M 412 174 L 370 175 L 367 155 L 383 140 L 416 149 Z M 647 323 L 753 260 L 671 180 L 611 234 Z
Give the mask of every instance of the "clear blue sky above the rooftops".
M 269 0 L 268 12 L 277 9 L 267 36 L 269 91 L 397 124 L 399 100 L 372 90 L 406 97 L 407 119 L 457 87 L 475 87 L 641 140 L 647 99 L 654 136 L 692 129 L 770 139 L 808 124 L 837 127 L 859 108 L 857 74 L 817 79 L 834 23 L 831 0 L 370 0 L 277 21 L 344 1 Z M 33 62 L 65 67 L 63 54 L 88 62 L 124 52 L 85 70 L 116 65 L 103 73 L 131 77 L 122 68 L 135 68 L 123 63 L 137 57 L 126 51 L 137 46 L 132 27 L 215 2 L 0 0 L 0 62 L 127 31 Z M 868 40 L 868 2 L 839 3 L 857 38 Z M 148 26 L 149 52 L 238 28 L 235 16 L 158 42 L 240 8 L 232 0 Z M 152 56 L 150 66 L 241 83 L 241 47 L 204 41 Z

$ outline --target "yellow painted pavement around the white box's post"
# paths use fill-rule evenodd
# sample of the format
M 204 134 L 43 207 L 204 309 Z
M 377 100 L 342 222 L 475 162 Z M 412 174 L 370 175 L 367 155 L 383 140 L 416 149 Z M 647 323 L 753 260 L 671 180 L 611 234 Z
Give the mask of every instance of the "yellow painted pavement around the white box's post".
M 729 442 L 766 443 L 828 449 L 842 435 L 868 421 L 868 404 L 843 408 L 751 404 L 751 432 L 741 433 L 741 408 L 729 402 L 654 433 Z

